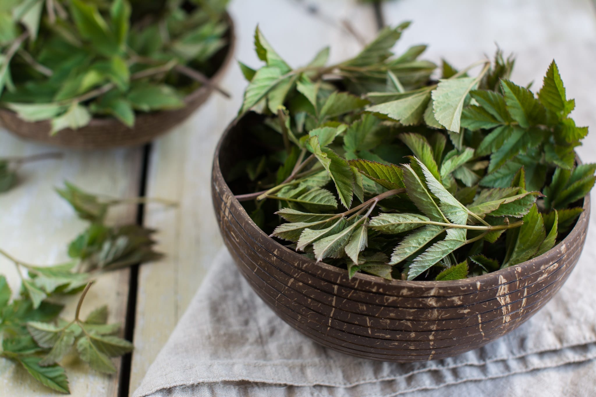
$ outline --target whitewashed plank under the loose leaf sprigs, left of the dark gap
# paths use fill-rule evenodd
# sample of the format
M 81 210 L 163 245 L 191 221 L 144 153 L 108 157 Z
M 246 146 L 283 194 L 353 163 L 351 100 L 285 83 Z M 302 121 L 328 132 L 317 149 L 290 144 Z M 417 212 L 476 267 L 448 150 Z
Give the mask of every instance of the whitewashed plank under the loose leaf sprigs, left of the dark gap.
M 22 142 L 1 129 L 0 141 L 0 157 L 56 151 L 48 146 Z M 62 185 L 64 180 L 91 192 L 117 197 L 138 194 L 140 149 L 62 152 L 62 160 L 24 165 L 18 173 L 18 186 L 0 195 L 0 246 L 20 260 L 33 264 L 66 261 L 67 243 L 85 228 L 86 224 L 76 217 L 70 205 L 54 192 L 54 187 Z M 118 223 L 134 222 L 135 218 L 135 206 L 117 207 L 109 214 L 109 220 Z M 3 257 L 0 258 L 0 274 L 7 275 L 13 292 L 18 292 L 20 280 L 14 265 Z M 130 271 L 125 269 L 99 277 L 85 299 L 83 315 L 107 304 L 109 321 L 124 324 L 129 276 Z M 73 318 L 77 300 L 78 296 L 66 299 L 62 317 Z M 120 368 L 120 360 L 115 362 Z M 119 376 L 93 371 L 76 355 L 67 357 L 63 364 L 72 395 L 117 396 Z M 55 396 L 56 393 L 35 382 L 20 365 L 0 358 L 0 395 Z

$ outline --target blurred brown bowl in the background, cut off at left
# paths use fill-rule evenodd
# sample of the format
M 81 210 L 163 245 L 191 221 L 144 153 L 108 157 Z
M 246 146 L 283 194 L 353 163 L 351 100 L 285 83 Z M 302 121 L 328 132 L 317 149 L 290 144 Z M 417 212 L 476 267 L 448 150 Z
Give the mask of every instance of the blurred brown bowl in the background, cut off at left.
M 148 113 L 136 113 L 135 125 L 125 126 L 113 117 L 97 117 L 85 127 L 77 130 L 64 129 L 51 136 L 51 123 L 44 121 L 24 121 L 11 110 L 0 108 L 0 124 L 14 135 L 27 140 L 47 143 L 62 148 L 75 149 L 107 149 L 120 146 L 136 146 L 150 142 L 172 127 L 186 120 L 200 105 L 209 98 L 213 86 L 217 86 L 232 60 L 235 47 L 234 21 L 226 14 L 228 45 L 213 57 L 213 62 L 219 64 L 215 74 L 210 77 L 210 85 L 202 85 L 184 98 L 185 107 Z

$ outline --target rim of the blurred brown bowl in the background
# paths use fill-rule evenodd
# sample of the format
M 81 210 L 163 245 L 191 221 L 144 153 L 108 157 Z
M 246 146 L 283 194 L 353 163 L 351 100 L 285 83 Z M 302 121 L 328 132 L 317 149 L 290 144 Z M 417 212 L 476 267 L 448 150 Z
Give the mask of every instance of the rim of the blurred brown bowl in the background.
M 224 56 L 224 59 L 221 62 L 221 65 L 219 65 L 218 70 L 215 71 L 213 76 L 209 77 L 210 82 L 218 82 L 220 77 L 225 73 L 225 71 L 228 68 L 229 62 L 234 57 L 234 51 L 236 48 L 236 31 L 235 31 L 235 26 L 234 26 L 234 20 L 232 19 L 231 15 L 229 14 L 229 12 L 227 10 L 225 11 L 224 18 L 225 18 L 226 22 L 228 23 L 229 43 L 228 43 L 228 45 L 226 45 L 224 47 L 224 48 L 227 48 L 227 51 Z M 142 120 L 144 118 L 149 118 L 149 117 L 159 117 L 162 114 L 170 114 L 175 111 L 184 110 L 196 98 L 198 98 L 202 95 L 207 95 L 210 92 L 210 90 L 212 90 L 212 87 L 210 85 L 201 85 L 200 87 L 197 87 L 191 93 L 188 93 L 188 95 L 186 95 L 184 98 L 182 98 L 182 101 L 184 101 L 184 106 L 181 108 L 150 111 L 150 112 L 136 112 L 135 111 L 135 124 L 132 127 L 128 127 L 125 124 L 123 124 L 122 121 L 118 120 L 117 118 L 115 118 L 113 116 L 108 115 L 107 117 L 92 117 L 86 126 L 83 126 L 77 130 L 85 129 L 85 127 L 110 127 L 117 123 L 119 125 L 122 125 L 123 127 L 126 127 L 126 129 L 129 131 L 133 131 L 133 130 L 135 130 L 135 126 L 138 124 L 139 119 Z M 9 117 L 17 117 L 20 119 L 20 117 L 18 117 L 18 115 L 17 115 L 17 112 L 15 112 L 9 108 L 0 107 L 0 112 L 8 115 Z M 20 120 L 22 120 L 22 119 L 20 119 Z M 49 125 L 50 120 L 39 120 L 39 121 L 23 120 L 23 122 L 29 123 L 29 124 L 48 124 Z M 74 130 L 74 131 L 76 132 L 77 130 Z

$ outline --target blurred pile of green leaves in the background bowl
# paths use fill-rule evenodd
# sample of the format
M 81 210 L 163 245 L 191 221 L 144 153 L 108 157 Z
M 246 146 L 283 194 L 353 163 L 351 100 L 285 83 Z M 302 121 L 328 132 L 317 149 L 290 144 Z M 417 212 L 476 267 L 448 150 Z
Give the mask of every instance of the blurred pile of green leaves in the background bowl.
M 196 3 L 196 4 L 195 4 Z M 215 73 L 225 0 L 6 0 L 0 4 L 0 106 L 52 133 L 92 117 L 184 107 Z

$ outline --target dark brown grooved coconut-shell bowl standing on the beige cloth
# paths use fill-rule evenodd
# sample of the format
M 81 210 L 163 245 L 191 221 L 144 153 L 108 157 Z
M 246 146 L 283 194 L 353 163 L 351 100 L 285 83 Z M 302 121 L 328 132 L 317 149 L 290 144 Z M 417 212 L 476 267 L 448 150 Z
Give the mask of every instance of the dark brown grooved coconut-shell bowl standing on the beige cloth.
M 573 230 L 532 260 L 454 281 L 388 281 L 315 262 L 250 219 L 224 174 L 246 149 L 247 115 L 226 129 L 213 161 L 212 196 L 225 245 L 256 293 L 321 345 L 381 361 L 426 361 L 486 345 L 516 329 L 560 289 L 582 252 L 589 195 Z

